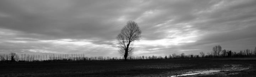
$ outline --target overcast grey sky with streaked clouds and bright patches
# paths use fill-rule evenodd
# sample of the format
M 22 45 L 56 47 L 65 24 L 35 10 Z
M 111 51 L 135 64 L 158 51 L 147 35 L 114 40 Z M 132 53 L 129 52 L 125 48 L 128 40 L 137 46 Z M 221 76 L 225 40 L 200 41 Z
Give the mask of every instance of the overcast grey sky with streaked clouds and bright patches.
M 256 47 L 256 0 L 0 0 L 0 54 L 120 57 L 116 36 L 133 20 L 135 56 Z

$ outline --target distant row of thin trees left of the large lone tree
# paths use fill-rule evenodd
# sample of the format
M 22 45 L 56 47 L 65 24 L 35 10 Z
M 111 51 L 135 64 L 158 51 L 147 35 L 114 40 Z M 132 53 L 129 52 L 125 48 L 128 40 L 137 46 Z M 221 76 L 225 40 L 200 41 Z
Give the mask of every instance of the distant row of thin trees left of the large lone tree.
M 58 54 L 58 55 L 29 55 L 16 53 L 0 54 L 0 63 L 17 62 L 57 62 L 57 61 L 93 61 L 93 60 L 119 60 L 117 57 L 86 57 L 85 54 Z

